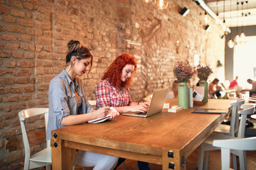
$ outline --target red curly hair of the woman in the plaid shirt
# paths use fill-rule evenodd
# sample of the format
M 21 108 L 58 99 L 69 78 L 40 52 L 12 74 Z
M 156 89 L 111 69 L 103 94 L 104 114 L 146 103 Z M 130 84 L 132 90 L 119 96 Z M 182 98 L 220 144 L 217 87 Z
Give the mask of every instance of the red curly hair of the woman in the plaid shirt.
M 121 81 L 121 74 L 122 69 L 127 65 L 132 64 L 134 65 L 134 71 L 132 72 L 132 76 L 136 73 L 137 69 L 137 60 L 134 56 L 128 55 L 127 53 L 123 52 L 119 55 L 113 62 L 110 64 L 110 67 L 107 68 L 107 71 L 102 77 L 102 80 L 107 79 L 110 81 L 110 84 L 114 86 L 116 89 L 120 89 L 123 87 L 124 89 L 128 89 L 129 86 L 132 84 L 132 76 L 127 79 L 127 81 Z

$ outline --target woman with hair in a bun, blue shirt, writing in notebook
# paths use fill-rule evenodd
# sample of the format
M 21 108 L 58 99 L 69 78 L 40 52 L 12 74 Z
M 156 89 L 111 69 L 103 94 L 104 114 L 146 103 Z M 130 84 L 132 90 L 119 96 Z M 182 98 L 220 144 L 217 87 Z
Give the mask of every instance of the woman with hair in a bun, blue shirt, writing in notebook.
M 50 81 L 48 101 L 49 119 L 46 140 L 50 140 L 52 130 L 68 125 L 87 123 L 89 120 L 102 118 L 110 112 L 110 107 L 103 107 L 94 111 L 87 101 L 82 80 L 85 72 L 90 72 L 92 55 L 90 51 L 80 45 L 79 41 L 68 42 L 66 67 Z M 119 113 L 112 111 L 111 119 L 117 118 Z M 94 170 L 113 169 L 117 164 L 117 157 L 93 152 L 80 151 L 75 164 L 94 166 Z

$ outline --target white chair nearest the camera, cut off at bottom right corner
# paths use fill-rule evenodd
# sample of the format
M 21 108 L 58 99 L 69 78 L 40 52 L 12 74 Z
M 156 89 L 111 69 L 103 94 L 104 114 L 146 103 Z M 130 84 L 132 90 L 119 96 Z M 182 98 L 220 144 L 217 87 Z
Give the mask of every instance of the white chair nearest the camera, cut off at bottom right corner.
M 256 137 L 231 140 L 213 140 L 213 147 L 221 148 L 221 169 L 230 169 L 230 149 L 256 150 Z

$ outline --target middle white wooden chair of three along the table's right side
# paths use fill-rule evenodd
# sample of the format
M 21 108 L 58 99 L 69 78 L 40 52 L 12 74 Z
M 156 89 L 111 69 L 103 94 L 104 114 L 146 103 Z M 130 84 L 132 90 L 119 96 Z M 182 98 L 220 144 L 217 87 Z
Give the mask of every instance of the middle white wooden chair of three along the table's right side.
M 199 152 L 198 152 L 198 169 L 199 170 L 208 169 L 209 151 L 220 149 L 219 147 L 213 147 L 213 140 L 228 140 L 228 139 L 237 139 L 237 138 L 245 137 L 246 118 L 247 118 L 247 115 L 254 113 L 255 106 L 249 105 L 249 104 L 243 104 L 242 107 L 244 108 L 244 110 L 238 111 L 238 114 L 241 115 L 240 125 L 238 129 L 238 137 L 233 137 L 233 136 L 223 135 L 218 133 L 211 134 L 199 147 Z M 205 164 L 203 168 L 203 153 L 205 151 L 206 151 L 206 159 L 205 159 Z M 240 169 L 247 169 L 245 152 L 233 150 L 232 154 L 233 154 L 233 169 L 237 169 L 235 155 L 239 157 Z

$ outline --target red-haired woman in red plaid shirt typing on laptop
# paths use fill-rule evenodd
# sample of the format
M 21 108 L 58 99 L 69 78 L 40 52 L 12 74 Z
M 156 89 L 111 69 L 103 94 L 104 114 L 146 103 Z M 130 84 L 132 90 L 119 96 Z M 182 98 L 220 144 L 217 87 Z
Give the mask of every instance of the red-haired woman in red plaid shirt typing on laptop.
M 97 106 L 112 106 L 119 113 L 146 112 L 149 103 L 134 102 L 130 96 L 129 86 L 137 69 L 137 61 L 132 55 L 122 53 L 110 64 L 95 90 Z M 119 158 L 117 166 L 125 159 Z M 146 162 L 138 162 L 139 169 L 149 169 Z M 116 166 L 116 168 L 117 168 Z M 116 169 L 115 168 L 115 169 Z

